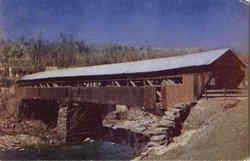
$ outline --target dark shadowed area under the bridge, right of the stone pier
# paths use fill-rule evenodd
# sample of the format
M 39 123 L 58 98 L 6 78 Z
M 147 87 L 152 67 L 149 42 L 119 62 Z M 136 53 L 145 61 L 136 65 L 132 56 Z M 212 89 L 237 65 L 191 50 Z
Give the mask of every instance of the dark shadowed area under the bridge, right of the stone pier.
M 107 105 L 70 103 L 67 108 L 66 142 L 84 140 L 88 137 L 102 138 L 105 135 L 102 122 L 108 112 Z

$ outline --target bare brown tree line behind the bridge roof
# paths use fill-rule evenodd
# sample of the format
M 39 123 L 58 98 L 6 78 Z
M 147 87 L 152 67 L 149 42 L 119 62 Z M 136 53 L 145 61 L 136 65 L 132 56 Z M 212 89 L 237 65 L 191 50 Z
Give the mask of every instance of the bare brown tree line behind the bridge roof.
M 0 40 L 0 65 L 32 72 L 44 71 L 47 66 L 68 68 L 120 63 L 151 58 L 184 55 L 206 49 L 156 49 L 151 46 L 121 44 L 92 44 L 64 35 L 51 41 L 38 38 Z

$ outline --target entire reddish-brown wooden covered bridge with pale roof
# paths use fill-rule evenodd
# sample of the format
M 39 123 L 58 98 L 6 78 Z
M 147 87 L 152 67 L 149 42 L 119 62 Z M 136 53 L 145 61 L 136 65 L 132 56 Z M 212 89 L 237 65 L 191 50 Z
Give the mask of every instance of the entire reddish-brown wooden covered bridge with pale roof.
M 244 68 L 245 65 L 232 50 L 218 49 L 184 56 L 36 73 L 17 82 L 16 96 L 21 102 L 19 116 L 23 113 L 25 102 L 27 104 L 31 100 L 96 105 L 98 109 L 93 111 L 93 116 L 99 120 L 97 124 L 101 121 L 100 117 L 97 119 L 97 113 L 101 113 L 106 105 L 167 110 L 174 104 L 199 99 L 206 89 L 237 88 L 244 77 Z M 47 110 L 54 111 L 52 108 Z M 39 111 L 38 107 L 31 109 Z M 71 116 L 67 119 L 70 120 Z M 90 124 L 96 126 L 93 121 Z M 67 124 L 67 128 L 69 126 Z

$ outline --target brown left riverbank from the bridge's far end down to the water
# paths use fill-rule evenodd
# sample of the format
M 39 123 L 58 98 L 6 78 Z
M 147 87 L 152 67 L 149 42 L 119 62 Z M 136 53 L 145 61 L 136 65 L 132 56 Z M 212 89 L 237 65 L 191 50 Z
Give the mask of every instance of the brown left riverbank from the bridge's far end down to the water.
M 56 130 L 40 120 L 17 120 L 15 87 L 0 90 L 0 152 L 59 145 Z

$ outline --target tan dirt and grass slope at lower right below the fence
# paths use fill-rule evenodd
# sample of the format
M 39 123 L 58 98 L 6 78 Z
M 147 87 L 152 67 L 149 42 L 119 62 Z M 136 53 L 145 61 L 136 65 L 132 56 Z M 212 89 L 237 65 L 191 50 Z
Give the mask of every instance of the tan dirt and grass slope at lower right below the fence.
M 248 99 L 200 100 L 182 134 L 149 160 L 242 160 L 248 157 Z

